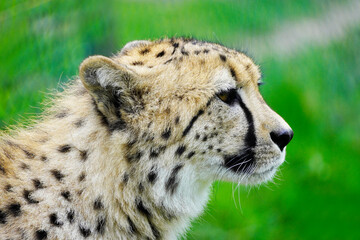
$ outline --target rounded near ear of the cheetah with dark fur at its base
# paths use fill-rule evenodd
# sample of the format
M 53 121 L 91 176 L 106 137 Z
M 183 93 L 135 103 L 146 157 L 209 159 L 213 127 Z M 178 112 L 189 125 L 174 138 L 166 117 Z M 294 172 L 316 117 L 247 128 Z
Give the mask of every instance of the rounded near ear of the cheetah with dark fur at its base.
M 121 112 L 135 112 L 139 105 L 132 90 L 135 73 L 110 58 L 92 56 L 81 63 L 79 75 L 109 126 L 124 128 Z

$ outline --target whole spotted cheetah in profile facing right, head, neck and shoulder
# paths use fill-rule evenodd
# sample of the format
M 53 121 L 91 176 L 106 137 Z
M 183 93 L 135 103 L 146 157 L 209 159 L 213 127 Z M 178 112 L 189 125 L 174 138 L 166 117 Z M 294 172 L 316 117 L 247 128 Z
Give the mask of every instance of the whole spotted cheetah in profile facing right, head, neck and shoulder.
M 0 239 L 177 239 L 215 180 L 260 184 L 289 125 L 259 67 L 220 44 L 133 41 L 91 56 L 30 127 L 0 137 Z

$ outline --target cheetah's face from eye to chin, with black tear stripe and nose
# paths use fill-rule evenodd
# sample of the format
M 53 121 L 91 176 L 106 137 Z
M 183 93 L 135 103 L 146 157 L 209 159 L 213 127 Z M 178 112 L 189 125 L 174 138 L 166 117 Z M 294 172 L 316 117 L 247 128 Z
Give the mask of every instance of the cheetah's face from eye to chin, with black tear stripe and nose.
M 272 179 L 293 132 L 266 105 L 256 83 L 219 90 L 203 115 L 191 138 L 206 153 L 204 161 L 214 179 L 243 184 Z

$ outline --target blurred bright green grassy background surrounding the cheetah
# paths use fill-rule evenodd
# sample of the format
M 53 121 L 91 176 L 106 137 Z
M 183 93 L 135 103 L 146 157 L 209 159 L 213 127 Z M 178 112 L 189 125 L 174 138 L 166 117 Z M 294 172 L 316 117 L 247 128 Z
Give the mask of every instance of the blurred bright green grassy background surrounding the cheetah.
M 131 40 L 190 36 L 245 49 L 295 136 L 274 183 L 215 183 L 186 239 L 360 239 L 360 24 L 287 54 L 256 45 L 348 2 L 1 1 L 0 128 L 41 113 L 46 92 L 85 57 Z

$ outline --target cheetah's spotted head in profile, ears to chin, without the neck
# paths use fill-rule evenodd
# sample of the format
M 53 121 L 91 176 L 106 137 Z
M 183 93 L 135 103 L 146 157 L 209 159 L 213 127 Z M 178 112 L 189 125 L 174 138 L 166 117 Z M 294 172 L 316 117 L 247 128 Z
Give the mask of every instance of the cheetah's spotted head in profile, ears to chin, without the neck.
M 135 41 L 112 58 L 86 59 L 80 78 L 143 174 L 156 165 L 199 181 L 258 184 L 272 179 L 293 137 L 260 95 L 259 67 L 218 44 Z

